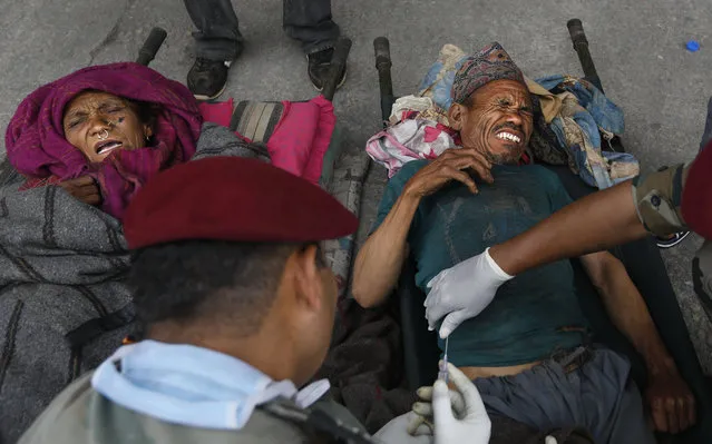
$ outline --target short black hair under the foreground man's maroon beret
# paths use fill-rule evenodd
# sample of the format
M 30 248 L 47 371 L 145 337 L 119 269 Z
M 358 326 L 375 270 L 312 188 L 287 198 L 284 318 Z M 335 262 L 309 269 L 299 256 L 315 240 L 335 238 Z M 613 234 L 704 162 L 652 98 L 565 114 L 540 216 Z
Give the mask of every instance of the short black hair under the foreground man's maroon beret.
M 144 327 L 228 322 L 254 333 L 274 303 L 286 259 L 309 245 L 185 240 L 146 247 L 128 276 L 138 319 Z M 321 250 L 316 260 L 324 266 Z

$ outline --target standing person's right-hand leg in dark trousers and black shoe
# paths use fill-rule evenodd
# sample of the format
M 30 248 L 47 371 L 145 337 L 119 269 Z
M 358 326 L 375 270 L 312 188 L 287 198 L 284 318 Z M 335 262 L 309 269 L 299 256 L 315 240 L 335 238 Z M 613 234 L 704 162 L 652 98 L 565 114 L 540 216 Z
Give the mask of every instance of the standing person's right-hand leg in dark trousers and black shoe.
M 283 8 L 284 31 L 302 43 L 309 60 L 309 78 L 321 91 L 340 34 L 339 26 L 331 18 L 331 0 L 283 0 Z M 344 68 L 339 86 L 345 77 Z

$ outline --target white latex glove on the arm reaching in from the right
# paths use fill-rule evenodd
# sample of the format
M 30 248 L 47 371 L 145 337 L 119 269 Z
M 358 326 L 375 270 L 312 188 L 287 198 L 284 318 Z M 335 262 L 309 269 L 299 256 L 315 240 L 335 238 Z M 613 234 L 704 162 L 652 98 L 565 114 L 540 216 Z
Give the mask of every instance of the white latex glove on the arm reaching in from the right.
M 489 248 L 443 269 L 428 283 L 425 306 L 430 329 L 445 316 L 440 326 L 445 339 L 464 320 L 479 315 L 492 302 L 497 288 L 513 277 L 489 256 Z

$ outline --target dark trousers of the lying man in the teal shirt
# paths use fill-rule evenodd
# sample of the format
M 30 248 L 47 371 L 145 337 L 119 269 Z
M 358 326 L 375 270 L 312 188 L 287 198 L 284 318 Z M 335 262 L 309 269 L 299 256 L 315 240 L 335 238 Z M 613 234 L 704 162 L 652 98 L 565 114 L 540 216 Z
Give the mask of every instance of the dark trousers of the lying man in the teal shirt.
M 628 377 L 627 361 L 605 348 L 592 354 L 589 362 L 570 373 L 548 359 L 514 376 L 474 383 L 489 414 L 538 431 L 583 426 L 596 443 L 654 444 L 641 394 Z

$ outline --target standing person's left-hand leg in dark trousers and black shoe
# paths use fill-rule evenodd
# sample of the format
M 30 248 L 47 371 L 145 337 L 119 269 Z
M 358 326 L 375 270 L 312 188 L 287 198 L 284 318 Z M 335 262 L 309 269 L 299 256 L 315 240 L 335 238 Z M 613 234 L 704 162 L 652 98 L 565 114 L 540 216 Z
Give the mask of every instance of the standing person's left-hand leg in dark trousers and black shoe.
M 188 89 L 198 100 L 214 99 L 225 89 L 230 62 L 242 52 L 243 38 L 230 0 L 184 0 L 197 28 L 196 60 L 188 72 Z

